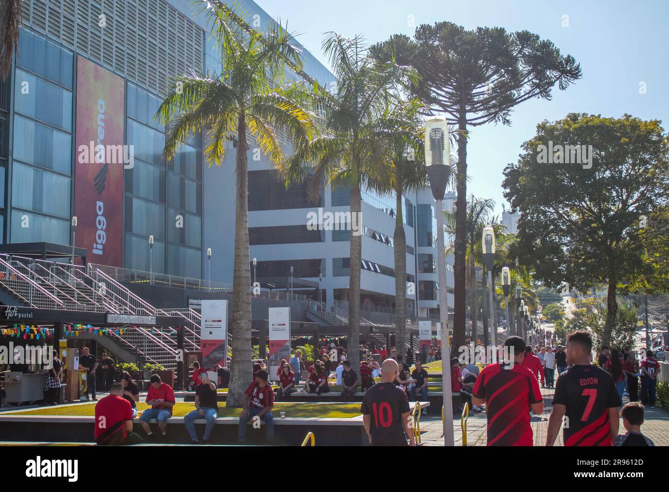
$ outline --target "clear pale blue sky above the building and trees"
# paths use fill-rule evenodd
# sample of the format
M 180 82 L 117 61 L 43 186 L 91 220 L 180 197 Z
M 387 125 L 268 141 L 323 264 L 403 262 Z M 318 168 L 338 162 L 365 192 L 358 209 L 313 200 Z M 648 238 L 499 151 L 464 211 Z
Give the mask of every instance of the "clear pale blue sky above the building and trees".
M 256 0 L 270 16 L 288 21 L 297 39 L 324 65 L 323 33 L 365 35 L 373 44 L 395 33 L 413 35 L 408 25 L 452 21 L 466 29 L 478 26 L 527 29 L 551 39 L 562 54 L 581 64 L 583 78 L 553 99 L 516 106 L 512 125 L 473 129 L 468 145 L 468 194 L 492 198 L 501 214 L 502 169 L 516 161 L 520 144 L 541 120 L 568 112 L 618 117 L 624 113 L 660 119 L 669 127 L 669 1 L 624 0 Z M 563 15 L 569 27 L 563 27 Z M 646 82 L 646 94 L 639 93 Z

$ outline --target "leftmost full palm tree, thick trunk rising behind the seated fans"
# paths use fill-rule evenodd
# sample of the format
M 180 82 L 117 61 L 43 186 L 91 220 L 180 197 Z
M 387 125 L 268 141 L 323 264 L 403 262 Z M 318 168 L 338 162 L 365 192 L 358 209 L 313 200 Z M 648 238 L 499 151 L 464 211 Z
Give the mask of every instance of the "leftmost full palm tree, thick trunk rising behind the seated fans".
M 307 94 L 300 83 L 288 83 L 286 65 L 300 68 L 300 50 L 282 27 L 267 33 L 248 29 L 236 13 L 219 0 L 208 0 L 211 35 L 222 54 L 221 74 L 177 78 L 157 116 L 169 125 L 165 157 L 171 159 L 183 142 L 201 129 L 207 131 L 205 157 L 209 166 L 220 167 L 225 144 L 237 147 L 235 212 L 235 260 L 230 330 L 232 352 L 227 406 L 240 406 L 251 381 L 251 273 L 248 239 L 247 134 L 274 164 L 284 160 L 276 132 L 282 131 L 293 144 L 304 145 L 314 135 L 313 114 L 303 107 Z

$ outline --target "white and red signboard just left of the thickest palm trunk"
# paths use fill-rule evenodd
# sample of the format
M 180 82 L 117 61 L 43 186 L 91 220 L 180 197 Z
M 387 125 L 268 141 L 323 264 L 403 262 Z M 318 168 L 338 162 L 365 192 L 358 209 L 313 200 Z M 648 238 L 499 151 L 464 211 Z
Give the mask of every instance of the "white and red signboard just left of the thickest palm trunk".
M 200 349 L 202 367 L 211 369 L 215 364 L 225 366 L 227 355 L 227 301 L 221 299 L 202 300 L 200 325 Z

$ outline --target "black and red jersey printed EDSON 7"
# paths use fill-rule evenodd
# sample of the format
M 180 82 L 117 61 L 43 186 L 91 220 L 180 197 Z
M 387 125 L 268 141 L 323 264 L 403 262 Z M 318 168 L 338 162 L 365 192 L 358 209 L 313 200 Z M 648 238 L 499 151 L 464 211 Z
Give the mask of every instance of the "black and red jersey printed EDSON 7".
M 609 408 L 620 404 L 611 374 L 597 365 L 573 365 L 555 385 L 553 405 L 564 405 L 565 446 L 610 446 Z

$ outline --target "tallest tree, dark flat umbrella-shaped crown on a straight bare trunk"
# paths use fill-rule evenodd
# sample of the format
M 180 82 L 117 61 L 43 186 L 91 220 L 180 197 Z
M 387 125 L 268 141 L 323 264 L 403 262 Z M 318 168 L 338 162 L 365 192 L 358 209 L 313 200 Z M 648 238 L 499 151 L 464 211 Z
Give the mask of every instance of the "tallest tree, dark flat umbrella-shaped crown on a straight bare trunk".
M 454 248 L 455 310 L 453 344 L 465 337 L 467 249 L 467 142 L 471 127 L 488 122 L 510 125 L 514 106 L 532 98 L 551 98 L 581 77 L 571 56 L 529 31 L 509 33 L 501 27 L 467 31 L 451 22 L 419 25 L 413 39 L 393 35 L 371 47 L 383 62 L 395 58 L 415 67 L 415 96 L 454 125 L 458 143 L 456 240 Z

